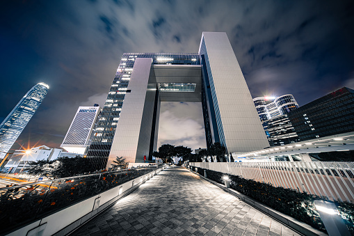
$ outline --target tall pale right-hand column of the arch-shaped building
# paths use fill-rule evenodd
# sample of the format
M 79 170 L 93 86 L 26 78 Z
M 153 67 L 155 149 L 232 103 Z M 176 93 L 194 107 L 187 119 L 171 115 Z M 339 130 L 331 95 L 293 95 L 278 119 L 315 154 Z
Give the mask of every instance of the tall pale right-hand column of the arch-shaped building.
M 228 152 L 268 146 L 264 129 L 226 33 L 203 32 L 204 55 L 220 143 Z

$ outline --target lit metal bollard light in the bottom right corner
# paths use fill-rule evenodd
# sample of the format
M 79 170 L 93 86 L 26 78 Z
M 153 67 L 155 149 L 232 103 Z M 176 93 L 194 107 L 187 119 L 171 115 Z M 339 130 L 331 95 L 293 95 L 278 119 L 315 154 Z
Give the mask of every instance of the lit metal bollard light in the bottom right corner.
M 341 216 L 334 203 L 328 203 L 324 200 L 314 200 L 314 205 L 320 214 L 321 220 L 325 225 L 325 230 L 327 230 L 328 235 L 351 235 L 348 228 L 346 228 L 346 224 L 344 223 L 343 219 L 341 219 Z

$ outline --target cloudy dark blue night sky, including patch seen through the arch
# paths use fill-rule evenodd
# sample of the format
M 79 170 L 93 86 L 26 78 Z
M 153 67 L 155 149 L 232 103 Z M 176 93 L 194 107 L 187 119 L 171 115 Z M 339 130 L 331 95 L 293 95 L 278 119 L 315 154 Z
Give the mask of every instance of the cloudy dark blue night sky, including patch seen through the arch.
M 354 88 L 353 13 L 350 0 L 3 0 L 0 120 L 45 82 L 18 143 L 58 147 L 79 106 L 104 104 L 124 52 L 198 52 L 202 31 L 227 33 L 253 97 L 303 105 Z M 159 143 L 204 147 L 200 104 L 164 103 Z

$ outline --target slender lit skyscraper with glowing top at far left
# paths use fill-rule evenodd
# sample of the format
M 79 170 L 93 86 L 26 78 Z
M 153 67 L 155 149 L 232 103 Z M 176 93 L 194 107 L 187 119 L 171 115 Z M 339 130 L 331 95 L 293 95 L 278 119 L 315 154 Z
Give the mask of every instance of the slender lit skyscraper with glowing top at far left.
M 48 89 L 49 86 L 44 83 L 33 86 L 3 120 L 0 125 L 0 158 L 5 157 L 19 134 L 29 123 L 45 95 L 47 95 Z

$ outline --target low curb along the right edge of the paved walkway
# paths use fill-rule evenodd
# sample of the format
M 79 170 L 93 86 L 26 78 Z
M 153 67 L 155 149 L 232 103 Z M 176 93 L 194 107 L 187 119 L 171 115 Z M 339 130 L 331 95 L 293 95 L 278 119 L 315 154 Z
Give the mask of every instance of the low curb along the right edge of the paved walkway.
M 188 171 L 191 171 L 189 168 L 186 168 Z M 282 212 L 278 212 L 277 210 L 273 210 L 271 207 L 268 207 L 264 205 L 263 203 L 259 203 L 259 201 L 250 198 L 249 196 L 246 196 L 245 194 L 241 194 L 239 191 L 236 191 L 234 189 L 230 189 L 225 187 L 223 184 L 219 184 L 218 182 L 215 182 L 214 180 L 209 180 L 208 178 L 205 178 L 204 176 L 200 175 L 199 173 L 196 173 L 194 171 L 191 171 L 192 173 L 195 173 L 196 175 L 199 175 L 200 178 L 207 180 L 208 182 L 211 182 L 211 184 L 216 185 L 220 189 L 223 189 L 229 194 L 232 194 L 233 196 L 236 196 L 240 200 L 243 200 L 243 202 L 248 203 L 248 205 L 251 205 L 252 207 L 257 208 L 257 210 L 260 210 L 267 214 L 268 216 L 276 219 L 277 221 L 280 221 L 286 226 L 289 226 L 293 230 L 298 231 L 298 233 L 301 233 L 303 235 L 309 235 L 309 236 L 325 236 L 328 235 L 326 233 L 323 233 L 320 230 L 317 230 L 316 228 L 313 228 L 312 226 L 309 226 L 307 223 L 303 223 L 301 221 L 298 221 L 297 219 L 288 216 L 287 214 L 283 214 Z

